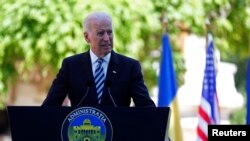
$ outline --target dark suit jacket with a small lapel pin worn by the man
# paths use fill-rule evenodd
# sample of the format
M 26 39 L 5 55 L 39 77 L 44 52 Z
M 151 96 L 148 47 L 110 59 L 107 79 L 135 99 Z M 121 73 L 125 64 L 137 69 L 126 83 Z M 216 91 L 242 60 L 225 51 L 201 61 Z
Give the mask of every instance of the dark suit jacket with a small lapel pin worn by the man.
M 132 98 L 135 106 L 155 107 L 144 84 L 138 61 L 112 51 L 106 80 L 110 83 L 110 93 L 117 106 L 129 106 Z M 91 86 L 86 94 L 89 82 Z M 107 83 L 101 104 L 98 104 L 94 82 L 89 51 L 68 57 L 63 60 L 42 106 L 61 106 L 67 95 L 72 106 L 113 106 Z M 80 102 L 85 94 L 84 100 Z

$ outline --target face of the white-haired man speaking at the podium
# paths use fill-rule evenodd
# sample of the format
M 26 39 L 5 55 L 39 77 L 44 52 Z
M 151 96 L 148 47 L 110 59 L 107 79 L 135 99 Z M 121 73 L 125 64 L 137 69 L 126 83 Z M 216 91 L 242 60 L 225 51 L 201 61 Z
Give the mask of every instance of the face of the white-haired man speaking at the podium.
M 92 19 L 90 31 L 84 32 L 84 37 L 91 50 L 98 57 L 103 57 L 113 48 L 112 23 L 107 19 Z

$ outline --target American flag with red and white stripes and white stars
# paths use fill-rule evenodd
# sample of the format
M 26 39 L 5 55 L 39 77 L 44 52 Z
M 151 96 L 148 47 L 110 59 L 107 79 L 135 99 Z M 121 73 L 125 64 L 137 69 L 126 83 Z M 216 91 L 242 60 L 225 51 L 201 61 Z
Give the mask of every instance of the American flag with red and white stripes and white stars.
M 208 125 L 219 124 L 219 104 L 216 92 L 216 73 L 214 66 L 214 45 L 211 33 L 208 34 L 206 67 L 203 78 L 201 103 L 198 108 L 198 141 L 208 140 Z

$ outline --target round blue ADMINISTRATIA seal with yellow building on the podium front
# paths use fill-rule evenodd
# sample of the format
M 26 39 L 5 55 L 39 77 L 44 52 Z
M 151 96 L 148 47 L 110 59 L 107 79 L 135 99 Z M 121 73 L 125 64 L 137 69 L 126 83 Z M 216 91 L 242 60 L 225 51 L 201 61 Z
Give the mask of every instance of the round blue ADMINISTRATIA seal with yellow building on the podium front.
M 113 128 L 109 118 L 100 110 L 81 107 L 64 119 L 62 141 L 112 141 Z

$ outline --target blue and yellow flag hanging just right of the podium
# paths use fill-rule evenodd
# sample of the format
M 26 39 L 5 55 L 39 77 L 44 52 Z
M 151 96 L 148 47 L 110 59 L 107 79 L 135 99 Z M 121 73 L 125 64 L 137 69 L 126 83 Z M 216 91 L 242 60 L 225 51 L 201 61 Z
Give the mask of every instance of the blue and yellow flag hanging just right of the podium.
M 169 36 L 162 37 L 162 55 L 159 74 L 158 107 L 171 107 L 170 133 L 173 141 L 182 141 L 180 116 L 176 99 L 177 81 Z

